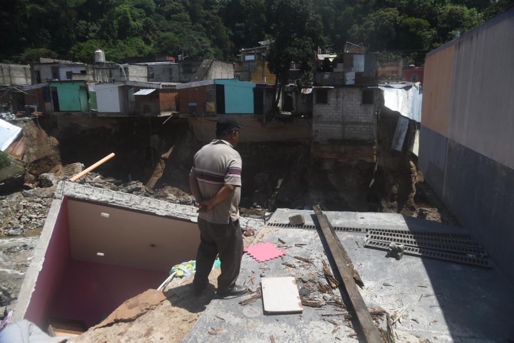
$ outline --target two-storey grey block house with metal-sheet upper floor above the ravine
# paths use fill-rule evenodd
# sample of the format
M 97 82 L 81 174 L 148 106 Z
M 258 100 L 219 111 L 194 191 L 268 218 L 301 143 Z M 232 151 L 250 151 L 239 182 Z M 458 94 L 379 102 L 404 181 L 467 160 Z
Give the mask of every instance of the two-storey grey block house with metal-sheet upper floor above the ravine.
M 313 86 L 313 152 L 355 150 L 374 161 L 377 128 L 377 54 L 363 48 L 318 54 Z M 357 149 L 356 149 L 357 148 Z M 362 153 L 362 148 L 367 153 Z M 350 154 L 351 155 L 351 154 Z

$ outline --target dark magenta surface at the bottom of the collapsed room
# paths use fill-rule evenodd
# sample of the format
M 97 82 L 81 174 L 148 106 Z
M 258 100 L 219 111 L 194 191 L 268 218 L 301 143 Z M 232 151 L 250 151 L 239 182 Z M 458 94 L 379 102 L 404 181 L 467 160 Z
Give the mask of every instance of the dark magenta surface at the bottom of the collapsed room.
M 49 317 L 82 320 L 89 328 L 167 277 L 153 270 L 70 260 Z

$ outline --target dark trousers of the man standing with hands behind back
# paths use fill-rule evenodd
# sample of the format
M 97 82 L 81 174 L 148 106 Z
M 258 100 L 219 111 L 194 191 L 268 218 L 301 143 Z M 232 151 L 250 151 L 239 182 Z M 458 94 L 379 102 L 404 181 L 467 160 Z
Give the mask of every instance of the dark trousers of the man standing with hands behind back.
M 200 245 L 196 253 L 196 273 L 193 286 L 196 291 L 204 290 L 209 284 L 209 273 L 219 254 L 222 273 L 218 277 L 218 293 L 227 293 L 235 285 L 243 257 L 243 236 L 239 220 L 235 223 L 212 224 L 198 218 Z

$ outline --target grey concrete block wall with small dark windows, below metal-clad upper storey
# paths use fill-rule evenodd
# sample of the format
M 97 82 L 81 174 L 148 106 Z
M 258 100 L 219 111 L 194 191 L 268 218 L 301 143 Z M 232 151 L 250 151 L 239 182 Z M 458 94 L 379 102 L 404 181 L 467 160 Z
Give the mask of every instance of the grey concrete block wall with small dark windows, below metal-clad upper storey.
M 313 137 L 317 142 L 329 140 L 375 140 L 375 105 L 362 104 L 359 87 L 326 88 L 327 104 L 313 104 Z

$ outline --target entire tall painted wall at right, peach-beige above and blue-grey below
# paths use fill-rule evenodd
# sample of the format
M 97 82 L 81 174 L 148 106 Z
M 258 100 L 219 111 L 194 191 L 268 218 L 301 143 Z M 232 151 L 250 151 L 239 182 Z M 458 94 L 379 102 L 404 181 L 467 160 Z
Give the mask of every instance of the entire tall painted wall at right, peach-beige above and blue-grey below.
M 419 167 L 514 282 L 514 9 L 427 55 Z

